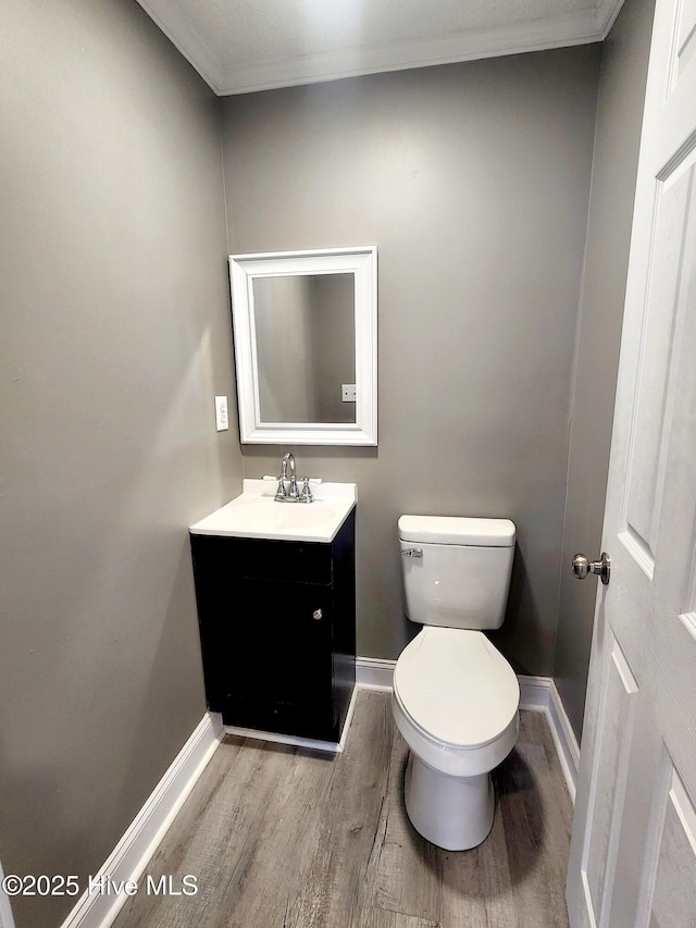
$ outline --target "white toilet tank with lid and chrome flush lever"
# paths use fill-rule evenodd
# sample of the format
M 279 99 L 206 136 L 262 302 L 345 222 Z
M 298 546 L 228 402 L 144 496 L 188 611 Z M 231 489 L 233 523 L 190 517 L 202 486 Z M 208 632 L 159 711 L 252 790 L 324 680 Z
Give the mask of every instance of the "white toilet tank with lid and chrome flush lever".
M 509 519 L 401 516 L 399 545 L 408 618 L 450 629 L 500 628 L 514 535 Z

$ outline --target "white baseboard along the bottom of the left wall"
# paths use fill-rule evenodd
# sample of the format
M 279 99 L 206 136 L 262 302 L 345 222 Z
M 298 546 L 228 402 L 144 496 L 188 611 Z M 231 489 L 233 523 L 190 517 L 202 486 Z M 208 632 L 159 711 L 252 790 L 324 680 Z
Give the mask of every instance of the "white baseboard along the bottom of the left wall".
M 100 877 L 114 883 L 139 879 L 222 737 L 220 717 L 207 713 L 109 859 L 94 875 L 92 884 Z M 127 898 L 124 892 L 110 895 L 85 890 L 61 928 L 109 928 Z

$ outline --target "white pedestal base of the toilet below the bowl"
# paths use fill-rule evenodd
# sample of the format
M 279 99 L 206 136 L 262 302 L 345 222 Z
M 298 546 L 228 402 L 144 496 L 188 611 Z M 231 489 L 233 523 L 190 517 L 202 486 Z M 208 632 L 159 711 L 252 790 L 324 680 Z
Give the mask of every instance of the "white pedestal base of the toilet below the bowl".
M 493 828 L 495 802 L 489 774 L 450 777 L 409 751 L 403 799 L 413 828 L 445 851 L 475 847 Z

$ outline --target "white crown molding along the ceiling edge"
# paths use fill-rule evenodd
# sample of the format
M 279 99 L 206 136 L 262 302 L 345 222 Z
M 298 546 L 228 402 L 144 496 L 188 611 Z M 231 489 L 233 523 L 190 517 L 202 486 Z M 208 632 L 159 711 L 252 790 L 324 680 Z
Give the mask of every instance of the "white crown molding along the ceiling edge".
M 457 33 L 381 48 L 291 55 L 225 67 L 181 7 L 171 0 L 138 0 L 142 9 L 217 96 L 319 84 L 388 71 L 452 64 L 505 54 L 602 41 L 624 0 L 598 0 L 594 12 Z

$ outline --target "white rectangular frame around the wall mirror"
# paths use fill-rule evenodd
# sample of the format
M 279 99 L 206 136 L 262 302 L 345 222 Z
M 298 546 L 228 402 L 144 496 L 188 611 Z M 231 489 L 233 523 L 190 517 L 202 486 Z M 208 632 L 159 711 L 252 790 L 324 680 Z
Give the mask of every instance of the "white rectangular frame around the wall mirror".
M 356 421 L 262 422 L 253 317 L 257 277 L 350 273 L 355 277 Z M 244 444 L 377 444 L 377 249 L 323 249 L 231 255 L 232 320 L 239 433 Z

